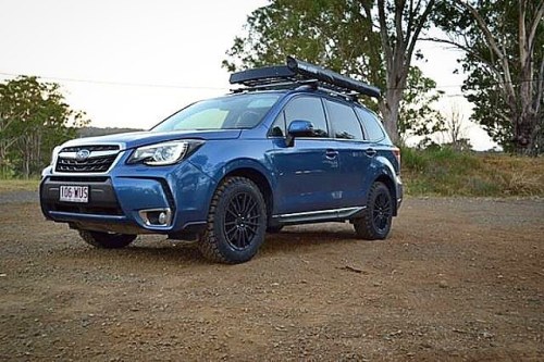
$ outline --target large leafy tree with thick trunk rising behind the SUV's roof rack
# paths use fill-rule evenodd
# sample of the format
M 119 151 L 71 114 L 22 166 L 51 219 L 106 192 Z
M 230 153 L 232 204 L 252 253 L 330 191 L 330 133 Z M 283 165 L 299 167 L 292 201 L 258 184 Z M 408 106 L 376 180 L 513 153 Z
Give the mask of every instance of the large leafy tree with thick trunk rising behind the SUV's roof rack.
M 223 65 L 230 71 L 283 63 L 296 55 L 385 89 L 374 108 L 396 141 L 416 42 L 428 27 L 434 0 L 273 0 L 247 18 Z M 422 77 L 418 79 L 422 80 Z M 371 104 L 372 105 L 372 104 Z

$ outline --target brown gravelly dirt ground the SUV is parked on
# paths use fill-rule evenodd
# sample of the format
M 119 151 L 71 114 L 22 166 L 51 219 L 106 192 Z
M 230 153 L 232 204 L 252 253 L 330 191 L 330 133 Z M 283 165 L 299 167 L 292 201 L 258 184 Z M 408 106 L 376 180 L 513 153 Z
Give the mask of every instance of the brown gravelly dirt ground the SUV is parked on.
M 0 360 L 542 361 L 543 219 L 542 199 L 408 199 L 387 241 L 289 227 L 226 266 L 158 237 L 92 249 L 1 202 Z

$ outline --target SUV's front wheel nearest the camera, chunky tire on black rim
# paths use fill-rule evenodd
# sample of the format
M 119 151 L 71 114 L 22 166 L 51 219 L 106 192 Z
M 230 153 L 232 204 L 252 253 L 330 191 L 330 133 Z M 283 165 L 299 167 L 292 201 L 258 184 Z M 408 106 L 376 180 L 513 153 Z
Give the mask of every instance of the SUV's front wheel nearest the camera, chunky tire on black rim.
M 227 177 L 213 194 L 208 226 L 198 247 L 211 261 L 244 263 L 264 241 L 267 220 L 267 207 L 257 185 L 245 177 Z

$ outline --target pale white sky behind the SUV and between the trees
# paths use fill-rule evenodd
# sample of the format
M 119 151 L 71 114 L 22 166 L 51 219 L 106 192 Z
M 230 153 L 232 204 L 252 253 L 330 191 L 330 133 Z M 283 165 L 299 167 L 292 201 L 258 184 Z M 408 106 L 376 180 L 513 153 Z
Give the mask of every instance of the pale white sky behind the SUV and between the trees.
M 225 51 L 267 0 L 0 0 L 0 82 L 36 75 L 62 86 L 66 102 L 97 127 L 150 128 L 194 101 L 228 92 Z M 424 42 L 423 73 L 460 97 L 458 53 Z M 493 143 L 467 124 L 475 149 Z

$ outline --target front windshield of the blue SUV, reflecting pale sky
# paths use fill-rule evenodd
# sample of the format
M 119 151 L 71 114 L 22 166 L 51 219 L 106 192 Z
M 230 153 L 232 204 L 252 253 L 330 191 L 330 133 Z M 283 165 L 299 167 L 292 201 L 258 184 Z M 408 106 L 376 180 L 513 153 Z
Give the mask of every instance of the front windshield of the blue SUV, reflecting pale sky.
M 252 128 L 279 98 L 279 93 L 249 93 L 200 101 L 174 113 L 151 130 Z

